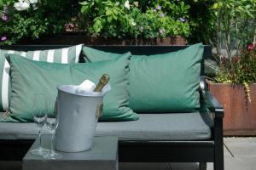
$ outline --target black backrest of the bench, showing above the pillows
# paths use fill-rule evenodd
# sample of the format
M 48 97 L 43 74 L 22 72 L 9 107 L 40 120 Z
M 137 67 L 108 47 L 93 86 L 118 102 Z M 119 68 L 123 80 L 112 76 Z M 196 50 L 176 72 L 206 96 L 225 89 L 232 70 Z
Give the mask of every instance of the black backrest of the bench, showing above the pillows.
M 12 46 L 0 46 L 2 49 L 12 49 L 12 50 L 20 50 L 20 51 L 29 51 L 29 50 L 44 50 L 51 48 L 66 48 L 69 45 L 12 45 Z M 179 49 L 187 48 L 188 46 L 117 46 L 117 45 L 97 45 L 97 46 L 88 46 L 91 48 L 100 49 L 103 51 L 123 54 L 127 51 L 130 51 L 131 54 L 137 55 L 150 55 L 150 54 L 165 54 L 177 51 Z M 203 76 L 205 73 L 204 69 L 204 59 L 212 58 L 212 48 L 210 46 L 205 46 L 203 59 L 201 62 L 201 75 Z

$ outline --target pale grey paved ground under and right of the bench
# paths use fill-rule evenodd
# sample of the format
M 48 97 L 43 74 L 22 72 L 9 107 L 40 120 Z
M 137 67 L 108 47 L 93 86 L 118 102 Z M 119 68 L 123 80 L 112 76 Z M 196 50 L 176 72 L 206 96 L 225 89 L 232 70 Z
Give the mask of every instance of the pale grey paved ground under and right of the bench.
M 224 147 L 225 170 L 256 169 L 256 138 L 225 138 L 224 144 L 230 150 Z M 21 170 L 21 162 L 0 161 L 0 170 Z M 198 164 L 120 163 L 119 170 L 198 170 Z M 212 163 L 207 164 L 207 170 L 213 170 Z

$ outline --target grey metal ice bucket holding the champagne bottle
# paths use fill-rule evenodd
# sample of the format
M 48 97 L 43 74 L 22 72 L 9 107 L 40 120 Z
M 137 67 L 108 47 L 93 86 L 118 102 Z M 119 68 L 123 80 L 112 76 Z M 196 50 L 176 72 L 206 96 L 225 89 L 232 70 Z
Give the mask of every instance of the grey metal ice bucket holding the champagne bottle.
M 79 152 L 89 150 L 102 114 L 102 93 L 75 94 L 76 86 L 58 87 L 59 125 L 55 133 L 55 150 Z

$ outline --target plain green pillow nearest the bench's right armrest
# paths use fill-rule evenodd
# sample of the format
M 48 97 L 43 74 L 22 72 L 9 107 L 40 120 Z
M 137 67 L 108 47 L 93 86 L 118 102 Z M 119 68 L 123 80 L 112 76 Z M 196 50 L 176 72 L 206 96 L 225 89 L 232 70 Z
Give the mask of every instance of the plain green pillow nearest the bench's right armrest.
M 130 64 L 130 107 L 137 112 L 198 111 L 201 43 L 167 54 L 132 55 Z M 87 61 L 110 59 L 120 54 L 106 54 L 93 48 L 82 49 Z

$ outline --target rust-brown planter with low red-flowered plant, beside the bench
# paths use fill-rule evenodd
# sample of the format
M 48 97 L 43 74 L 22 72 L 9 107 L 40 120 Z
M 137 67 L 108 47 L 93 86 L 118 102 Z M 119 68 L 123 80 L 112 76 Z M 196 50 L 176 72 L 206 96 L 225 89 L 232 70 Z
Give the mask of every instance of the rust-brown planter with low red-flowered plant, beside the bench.
M 250 45 L 249 47 L 253 47 Z M 256 49 L 222 58 L 210 91 L 224 105 L 225 135 L 256 134 Z

